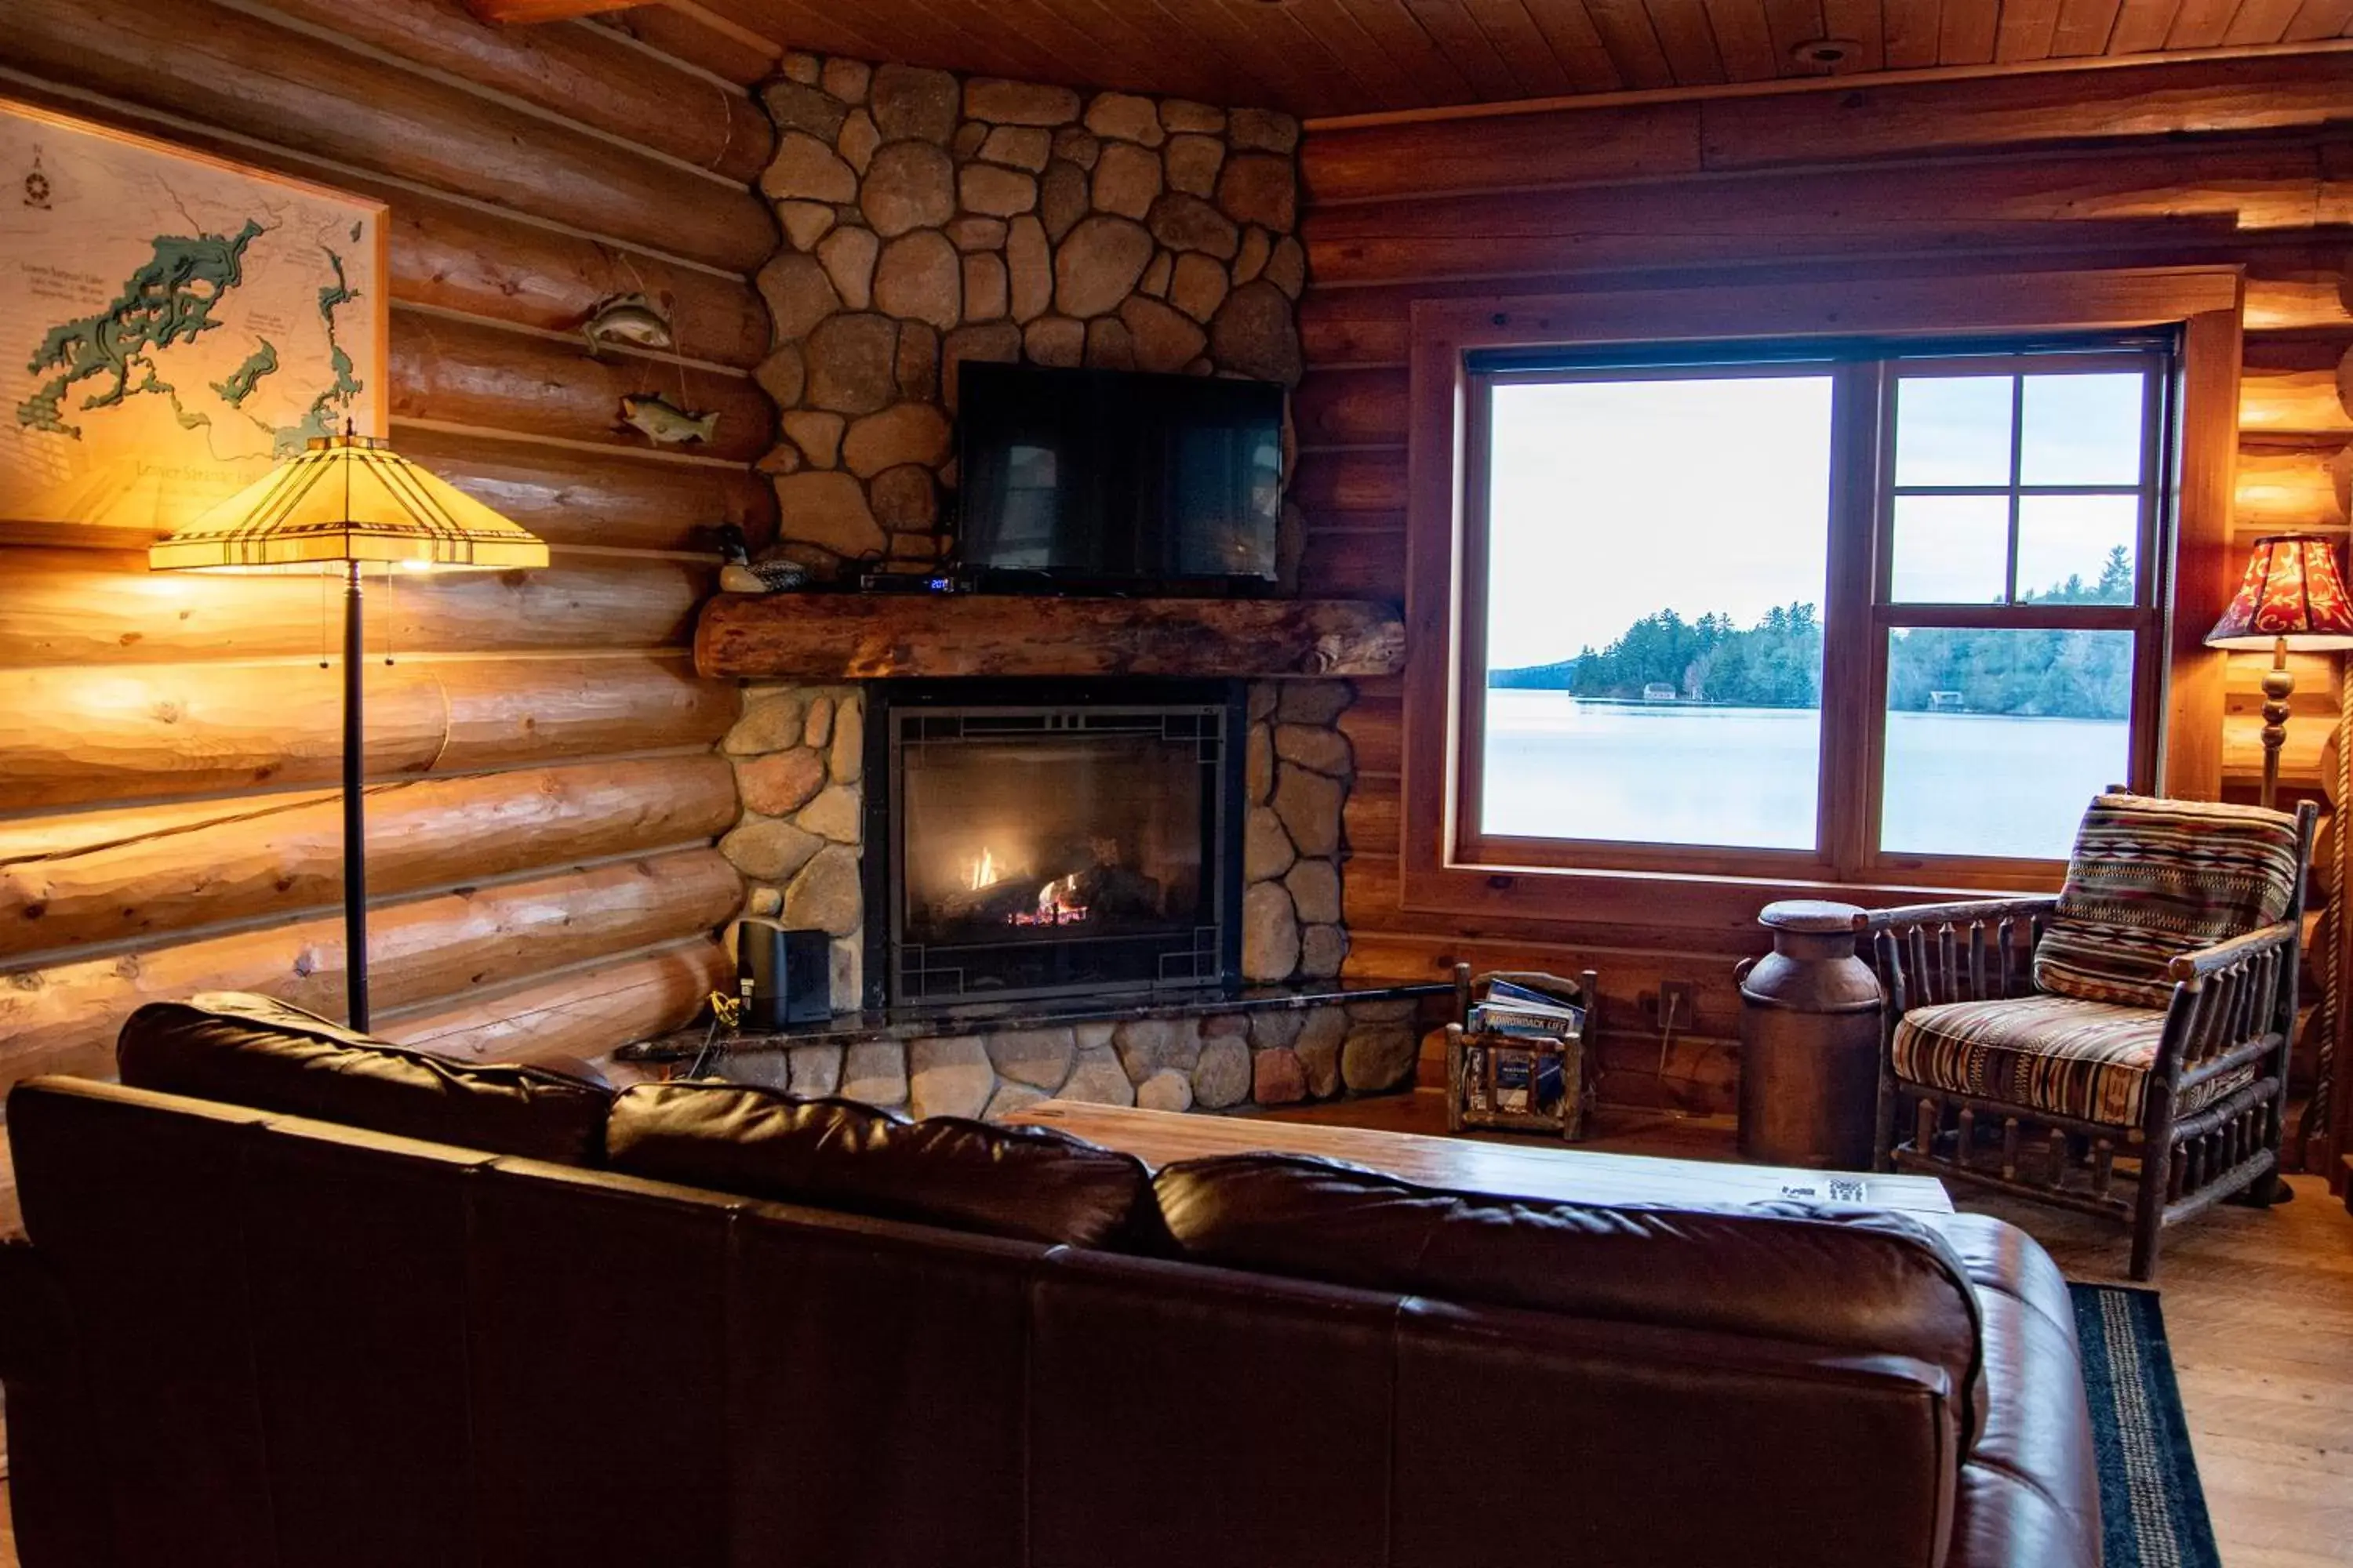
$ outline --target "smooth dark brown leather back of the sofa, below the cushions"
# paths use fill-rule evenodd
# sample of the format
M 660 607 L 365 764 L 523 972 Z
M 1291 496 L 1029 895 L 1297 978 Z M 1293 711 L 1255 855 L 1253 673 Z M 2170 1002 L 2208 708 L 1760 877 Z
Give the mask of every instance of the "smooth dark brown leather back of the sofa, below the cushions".
M 56 1544 L 71 1488 L 19 1490 L 26 1568 L 1937 1568 L 1951 1535 L 1962 1401 L 1915 1354 L 73 1079 L 19 1086 L 9 1133 L 73 1319 L 24 1441 L 96 1479 L 108 1537 Z

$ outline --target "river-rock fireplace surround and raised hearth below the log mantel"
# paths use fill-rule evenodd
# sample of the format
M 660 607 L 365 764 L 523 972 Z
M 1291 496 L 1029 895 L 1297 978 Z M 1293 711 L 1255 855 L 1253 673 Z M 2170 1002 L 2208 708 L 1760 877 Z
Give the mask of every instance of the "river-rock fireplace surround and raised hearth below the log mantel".
M 1238 712 L 1224 696 L 1235 686 Z M 894 696 L 918 689 L 939 701 L 894 703 Z M 1348 952 L 1341 917 L 1341 813 L 1353 778 L 1341 729 L 1353 701 L 1346 679 L 1085 684 L 1096 698 L 1115 698 L 1096 703 L 1104 715 L 1132 717 L 1139 710 L 1134 698 L 1151 691 L 1172 710 L 1193 708 L 1195 722 L 1205 717 L 1198 712 L 1202 708 L 1221 710 L 1228 724 L 1238 719 L 1240 748 L 1224 745 L 1214 764 L 1226 780 L 1217 839 L 1226 865 L 1202 875 L 1202 882 L 1224 882 L 1228 889 L 1235 919 L 1224 931 L 1221 952 L 1231 952 L 1231 959 L 1221 959 L 1221 969 L 1238 985 L 1162 985 L 1141 992 L 1101 987 L 1092 997 L 1078 994 L 1080 987 L 1073 985 L 1066 994 L 1033 992 L 1033 1001 L 1012 1001 L 1012 1016 L 988 1009 L 972 1016 L 939 999 L 932 999 L 934 1006 L 882 1006 L 889 999 L 882 971 L 889 959 L 880 931 L 892 919 L 892 903 L 878 891 L 875 872 L 889 835 L 889 806 L 873 797 L 889 788 L 892 715 L 955 715 L 967 724 L 974 708 L 1005 708 L 1000 698 L 1007 689 L 1024 698 L 1014 703 L 1021 712 L 1012 717 L 1033 726 L 1024 743 L 1038 736 L 1038 722 L 1047 712 L 1073 708 L 1066 682 L 755 682 L 744 689 L 744 717 L 722 743 L 736 766 L 744 820 L 720 849 L 744 872 L 751 914 L 781 917 L 788 926 L 833 936 L 833 994 L 845 1016 L 833 1030 L 779 1037 L 767 1048 L 732 1053 L 722 1065 L 727 1077 L 793 1093 L 842 1093 L 913 1114 L 967 1117 L 1009 1114 L 1049 1095 L 1158 1110 L 1285 1105 L 1391 1088 L 1412 1077 L 1421 1032 L 1442 1013 L 1442 999 L 1353 994 L 1339 983 Z M 1217 696 L 1202 696 L 1205 691 Z M 1132 745 L 1115 764 L 1118 771 L 1101 778 L 1106 790 L 1120 797 L 1134 792 L 1134 778 L 1122 773 L 1139 766 L 1139 750 L 1144 757 L 1160 752 L 1158 762 L 1184 750 L 1181 741 L 1167 738 L 1174 717 L 1160 715 L 1160 738 Z M 972 743 L 981 748 L 1005 741 L 976 724 L 967 729 L 976 731 Z M 1101 733 L 1120 745 L 1136 736 L 1120 724 Z M 1198 748 L 1200 736 L 1191 745 Z M 1191 766 L 1200 788 L 1209 790 L 1198 752 Z M 936 783 L 962 785 L 962 773 L 960 764 L 951 764 Z M 955 802 L 962 788 L 953 788 L 946 797 Z M 1073 875 L 1085 882 L 1085 870 L 1099 858 L 1129 860 L 1127 853 L 1094 856 L 1092 844 L 1056 849 L 1061 839 L 1158 835 L 1160 846 L 1134 856 L 1136 863 L 1127 870 L 1162 882 L 1153 898 L 1162 914 L 1188 907 L 1191 882 L 1181 867 L 1195 849 L 1172 846 L 1202 844 L 1200 802 L 1169 795 L 1174 799 L 1158 806 L 1158 818 L 1115 818 L 1111 832 L 1096 835 L 1073 832 L 1085 818 L 1073 820 L 1071 813 L 1064 813 L 1061 827 L 1038 827 L 1054 811 L 1040 811 L 1035 799 L 1014 802 L 1019 809 L 1000 818 L 998 802 L 979 795 L 969 811 L 953 811 L 941 825 L 929 884 L 962 882 L 965 893 L 1012 886 L 1019 898 L 1012 891 L 1000 900 L 951 898 L 946 907 L 967 914 L 995 910 L 1007 917 L 1026 910 L 1035 919 L 1049 882 Z M 1181 806 L 1193 811 L 1191 839 L 1174 832 L 1184 818 Z M 981 832 L 974 849 L 969 835 L 976 825 L 998 820 L 1005 827 L 995 839 Z M 1005 863 L 1002 870 L 988 867 L 995 872 L 993 882 L 986 872 L 974 877 L 981 851 Z M 1071 867 L 1054 856 L 1071 860 Z M 1021 865 L 1019 877 L 1012 865 Z M 1054 877 L 1045 877 L 1047 870 Z M 974 879 L 984 886 L 972 889 Z M 1233 889 L 1238 898 L 1231 896 Z M 1073 929 L 1059 917 L 1052 924 L 1007 919 L 1012 943 L 998 931 L 988 936 L 1000 945 L 1035 943 L 1042 952 L 1054 952 Z

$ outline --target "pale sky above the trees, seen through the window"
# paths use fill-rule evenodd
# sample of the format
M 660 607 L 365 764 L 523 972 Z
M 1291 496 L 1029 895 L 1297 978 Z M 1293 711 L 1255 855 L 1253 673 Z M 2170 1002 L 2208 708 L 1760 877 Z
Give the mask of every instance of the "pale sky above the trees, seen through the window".
M 1897 484 L 2005 484 L 2009 376 L 1906 376 Z M 2026 376 L 2028 484 L 2134 484 L 2139 374 Z M 1753 625 L 1824 602 L 1831 378 L 1562 381 L 1494 388 L 1487 665 L 1602 649 L 1657 609 Z M 2132 496 L 2031 496 L 2019 588 L 2097 581 L 2132 545 Z M 1899 496 L 1901 602 L 1988 604 L 2007 567 L 2009 503 Z

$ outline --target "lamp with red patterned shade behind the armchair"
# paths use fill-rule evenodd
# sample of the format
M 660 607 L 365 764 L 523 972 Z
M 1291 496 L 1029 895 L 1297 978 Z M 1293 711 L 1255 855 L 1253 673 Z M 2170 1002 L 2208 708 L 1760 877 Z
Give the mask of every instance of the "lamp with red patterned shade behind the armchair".
M 2214 630 L 2207 632 L 2209 649 L 2242 654 L 2271 654 L 2264 670 L 2264 804 L 2280 804 L 2280 748 L 2287 745 L 2287 698 L 2297 689 L 2297 677 L 2287 668 L 2289 654 L 2332 654 L 2353 649 L 2353 602 L 2346 597 L 2344 571 L 2337 562 L 2337 541 L 2327 534 L 2273 534 L 2254 541 L 2247 557 L 2247 576 L 2240 578 L 2231 609 L 2224 611 Z M 2344 738 L 2339 738 L 2344 745 Z M 2353 802 L 2339 790 L 2337 811 L 2346 813 Z M 2346 910 L 2346 820 L 2339 816 L 2329 832 L 2334 865 L 2329 867 L 2329 922 L 2353 917 Z M 2341 940 L 2329 940 L 2320 950 L 2320 994 L 2325 1018 L 2315 1044 L 2313 1098 L 2297 1124 L 2297 1145 L 2306 1147 L 2315 1135 L 2327 1135 L 2329 1095 L 2337 1086 L 2337 1025 L 2344 1009 L 2344 976 L 2337 954 Z

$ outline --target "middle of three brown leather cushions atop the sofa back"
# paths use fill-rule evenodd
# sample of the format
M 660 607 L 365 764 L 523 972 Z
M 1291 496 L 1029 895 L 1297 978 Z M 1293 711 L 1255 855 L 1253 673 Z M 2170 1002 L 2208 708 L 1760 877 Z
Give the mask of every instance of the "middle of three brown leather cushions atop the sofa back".
M 638 1084 L 607 1140 L 633 1175 L 1045 1246 L 1122 1244 L 1151 1211 L 1144 1161 L 1068 1133 L 744 1084 Z

